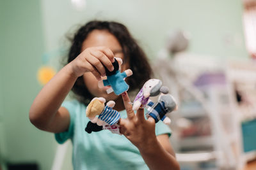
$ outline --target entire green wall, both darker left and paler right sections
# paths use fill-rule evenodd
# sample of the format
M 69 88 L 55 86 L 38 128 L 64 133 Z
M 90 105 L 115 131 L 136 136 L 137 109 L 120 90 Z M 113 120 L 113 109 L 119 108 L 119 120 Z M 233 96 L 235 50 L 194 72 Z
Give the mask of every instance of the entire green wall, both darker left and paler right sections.
M 29 108 L 42 88 L 36 71 L 42 55 L 63 45 L 68 31 L 92 19 L 116 20 L 131 33 L 153 59 L 166 34 L 177 28 L 189 32 L 188 52 L 246 59 L 240 0 L 88 0 L 83 11 L 68 0 L 0 0 L 0 153 L 11 162 L 36 161 L 51 169 L 56 148 L 53 134 L 31 125 Z M 63 168 L 70 169 L 68 148 Z

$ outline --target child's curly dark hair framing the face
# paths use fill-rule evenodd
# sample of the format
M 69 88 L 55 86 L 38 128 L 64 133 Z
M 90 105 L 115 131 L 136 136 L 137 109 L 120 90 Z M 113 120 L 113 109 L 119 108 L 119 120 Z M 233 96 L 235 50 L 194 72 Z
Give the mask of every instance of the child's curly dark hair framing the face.
M 95 29 L 109 31 L 116 37 L 122 46 L 124 63 L 129 62 L 130 69 L 133 72 L 132 76 L 126 78 L 129 84 L 128 92 L 140 89 L 145 81 L 150 79 L 152 69 L 145 53 L 141 50 L 138 43 L 136 43 L 136 40 L 132 38 L 127 27 L 118 22 L 93 20 L 80 27 L 74 35 L 74 38 L 70 38 L 72 45 L 68 53 L 67 63 L 76 59 L 81 53 L 84 40 L 87 38 L 88 34 Z M 77 78 L 74 87 L 72 87 L 72 91 L 76 94 L 77 99 L 86 105 L 90 103 L 94 97 L 84 85 L 83 76 Z

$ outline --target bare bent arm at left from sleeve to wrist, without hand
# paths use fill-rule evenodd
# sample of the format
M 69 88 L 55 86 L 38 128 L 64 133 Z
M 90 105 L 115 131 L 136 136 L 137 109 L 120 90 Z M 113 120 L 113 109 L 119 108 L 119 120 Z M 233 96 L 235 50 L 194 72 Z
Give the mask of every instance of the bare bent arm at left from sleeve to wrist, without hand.
M 38 129 L 61 132 L 68 129 L 70 117 L 67 109 L 60 108 L 77 76 L 70 64 L 63 67 L 39 92 L 29 110 L 29 119 Z

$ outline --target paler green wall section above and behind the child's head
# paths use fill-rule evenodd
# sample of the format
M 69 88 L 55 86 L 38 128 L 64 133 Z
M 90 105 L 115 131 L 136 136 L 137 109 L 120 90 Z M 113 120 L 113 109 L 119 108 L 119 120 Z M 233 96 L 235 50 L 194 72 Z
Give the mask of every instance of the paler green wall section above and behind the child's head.
M 184 29 L 188 52 L 221 58 L 246 58 L 241 0 L 88 0 L 83 11 L 70 1 L 42 1 L 45 46 L 59 48 L 68 31 L 92 19 L 117 20 L 129 27 L 150 58 L 164 46 L 166 34 Z M 58 12 L 56 12 L 58 11 Z M 58 22 L 56 22 L 58 20 Z

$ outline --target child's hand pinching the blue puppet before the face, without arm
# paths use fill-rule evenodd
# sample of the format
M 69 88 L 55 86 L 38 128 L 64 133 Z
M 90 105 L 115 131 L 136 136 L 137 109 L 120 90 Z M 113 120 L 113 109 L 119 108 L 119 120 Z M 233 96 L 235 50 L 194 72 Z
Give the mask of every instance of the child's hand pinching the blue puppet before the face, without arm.
M 92 72 L 97 80 L 100 80 L 100 76 L 106 75 L 104 66 L 109 71 L 113 71 L 112 62 L 115 62 L 114 54 L 109 48 L 95 46 L 86 48 L 76 59 L 70 62 L 70 65 L 75 76 L 79 77 L 86 72 Z

